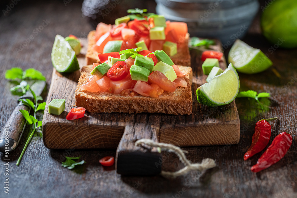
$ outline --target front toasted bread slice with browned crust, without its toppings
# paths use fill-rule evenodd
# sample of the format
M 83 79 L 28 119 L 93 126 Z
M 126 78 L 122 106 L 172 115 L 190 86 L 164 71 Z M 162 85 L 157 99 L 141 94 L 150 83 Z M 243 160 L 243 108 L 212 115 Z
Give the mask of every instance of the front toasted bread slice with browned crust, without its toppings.
M 92 65 L 84 66 L 78 85 L 75 89 L 75 104 L 77 107 L 84 107 L 90 113 L 166 113 L 174 115 L 192 114 L 192 68 L 178 66 L 181 72 L 185 73 L 184 79 L 187 87 L 177 87 L 171 93 L 165 91 L 158 98 L 145 96 L 121 96 L 109 92 L 83 91 L 80 86 L 86 83 L 91 76 Z

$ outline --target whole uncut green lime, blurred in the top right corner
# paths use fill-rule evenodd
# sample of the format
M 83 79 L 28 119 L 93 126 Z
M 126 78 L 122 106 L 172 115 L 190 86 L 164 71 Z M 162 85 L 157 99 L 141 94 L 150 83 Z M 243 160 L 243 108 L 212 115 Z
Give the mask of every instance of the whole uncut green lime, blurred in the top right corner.
M 297 47 L 297 1 L 270 0 L 261 9 L 263 35 L 279 47 Z

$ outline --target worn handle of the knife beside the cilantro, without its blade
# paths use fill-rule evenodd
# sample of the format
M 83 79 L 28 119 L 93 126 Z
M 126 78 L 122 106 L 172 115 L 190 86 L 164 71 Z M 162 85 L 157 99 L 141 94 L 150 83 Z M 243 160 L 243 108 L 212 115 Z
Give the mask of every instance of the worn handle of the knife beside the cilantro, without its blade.
M 27 121 L 20 113 L 20 109 L 29 111 L 30 107 L 20 102 L 4 125 L 0 134 L 0 151 L 3 153 L 15 149 L 26 127 Z

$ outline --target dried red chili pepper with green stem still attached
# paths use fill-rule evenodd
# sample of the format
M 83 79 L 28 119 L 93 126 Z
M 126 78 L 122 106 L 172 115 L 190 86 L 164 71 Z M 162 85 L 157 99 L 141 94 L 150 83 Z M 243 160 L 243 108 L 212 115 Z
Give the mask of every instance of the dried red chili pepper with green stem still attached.
M 271 126 L 268 122 L 275 119 L 277 118 L 261 119 L 256 123 L 255 133 L 253 134 L 252 145 L 244 154 L 244 157 L 243 157 L 244 160 L 249 159 L 256 153 L 259 153 L 267 146 L 271 135 Z

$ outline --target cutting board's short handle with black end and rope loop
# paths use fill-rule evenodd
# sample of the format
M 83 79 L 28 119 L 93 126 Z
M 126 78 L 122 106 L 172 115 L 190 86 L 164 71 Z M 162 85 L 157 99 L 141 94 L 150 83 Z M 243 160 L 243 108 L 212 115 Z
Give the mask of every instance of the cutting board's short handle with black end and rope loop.
M 146 123 L 127 124 L 116 150 L 117 173 L 127 176 L 150 176 L 161 172 L 162 154 L 157 148 L 135 146 L 140 139 L 158 142 L 157 128 Z

